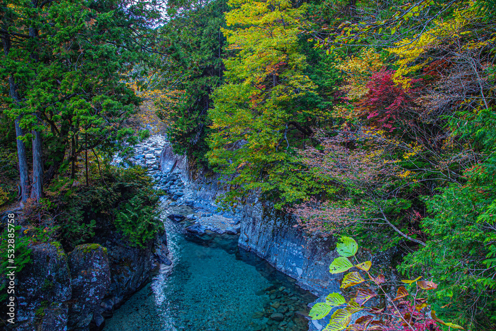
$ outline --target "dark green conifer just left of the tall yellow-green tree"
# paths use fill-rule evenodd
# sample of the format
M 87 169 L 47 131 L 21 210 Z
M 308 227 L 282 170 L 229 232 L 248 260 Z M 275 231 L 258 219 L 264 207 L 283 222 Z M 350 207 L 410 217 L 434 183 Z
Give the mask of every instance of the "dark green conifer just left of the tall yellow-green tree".
M 208 150 L 205 138 L 211 132 L 207 113 L 212 107 L 210 93 L 223 81 L 226 38 L 221 28 L 226 26 L 227 11 L 226 0 L 210 1 L 176 13 L 160 29 L 165 34 L 162 42 L 172 59 L 167 69 L 181 75 L 175 86 L 184 91 L 181 102 L 161 105 L 166 108 L 167 134 L 176 153 L 186 153 L 203 165 Z

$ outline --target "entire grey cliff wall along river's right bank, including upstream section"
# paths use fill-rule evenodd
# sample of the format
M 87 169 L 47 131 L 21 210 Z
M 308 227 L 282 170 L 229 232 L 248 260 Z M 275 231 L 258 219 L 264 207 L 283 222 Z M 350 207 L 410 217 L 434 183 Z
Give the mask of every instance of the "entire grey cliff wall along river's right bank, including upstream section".
M 209 170 L 193 171 L 184 156 L 177 156 L 166 147 L 161 155 L 161 169 L 179 169 L 186 187 L 193 193 L 194 203 L 211 203 L 225 193 L 225 182 Z M 327 294 L 337 279 L 329 273 L 329 265 L 337 256 L 336 241 L 307 238 L 294 227 L 296 219 L 260 203 L 251 197 L 235 214 L 241 221 L 239 246 L 268 261 L 278 270 L 298 280 L 298 284 L 316 295 Z

